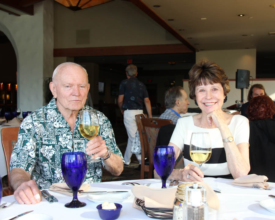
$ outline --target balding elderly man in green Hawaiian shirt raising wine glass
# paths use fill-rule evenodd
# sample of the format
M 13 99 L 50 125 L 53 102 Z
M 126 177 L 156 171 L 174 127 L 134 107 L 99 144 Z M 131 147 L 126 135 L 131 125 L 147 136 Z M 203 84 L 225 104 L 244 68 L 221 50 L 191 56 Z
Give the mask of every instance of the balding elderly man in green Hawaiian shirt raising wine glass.
M 19 204 L 39 203 L 39 189 L 64 182 L 60 164 L 64 152 L 86 152 L 90 155 L 87 157 L 101 157 L 100 162 L 87 164 L 87 183 L 101 182 L 101 164 L 113 175 L 123 171 L 123 157 L 106 116 L 97 111 L 100 131 L 94 139 L 89 141 L 78 130 L 79 111 L 91 109 L 84 106 L 89 88 L 84 68 L 74 63 L 60 64 L 50 83 L 53 99 L 21 123 L 9 175 Z

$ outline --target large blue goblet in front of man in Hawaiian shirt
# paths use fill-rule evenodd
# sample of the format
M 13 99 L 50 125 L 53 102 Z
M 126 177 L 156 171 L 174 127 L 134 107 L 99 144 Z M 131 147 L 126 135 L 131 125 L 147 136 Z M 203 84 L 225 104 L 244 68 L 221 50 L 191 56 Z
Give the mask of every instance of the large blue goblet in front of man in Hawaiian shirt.
M 73 193 L 73 200 L 65 204 L 67 208 L 80 208 L 86 203 L 77 199 L 77 193 L 84 182 L 87 172 L 86 154 L 83 152 L 67 152 L 61 158 L 61 171 L 63 178 Z

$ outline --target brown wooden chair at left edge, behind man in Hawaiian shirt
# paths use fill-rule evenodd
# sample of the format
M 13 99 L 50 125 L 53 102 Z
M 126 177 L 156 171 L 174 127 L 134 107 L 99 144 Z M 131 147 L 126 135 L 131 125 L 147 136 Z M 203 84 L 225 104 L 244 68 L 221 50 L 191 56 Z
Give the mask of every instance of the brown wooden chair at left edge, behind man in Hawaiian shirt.
M 9 184 L 9 162 L 13 151 L 13 147 L 17 141 L 19 127 L 5 127 L 1 130 L 2 146 L 4 150 L 7 174 L 8 174 L 8 184 Z M 3 189 L 3 196 L 13 195 L 10 185 Z

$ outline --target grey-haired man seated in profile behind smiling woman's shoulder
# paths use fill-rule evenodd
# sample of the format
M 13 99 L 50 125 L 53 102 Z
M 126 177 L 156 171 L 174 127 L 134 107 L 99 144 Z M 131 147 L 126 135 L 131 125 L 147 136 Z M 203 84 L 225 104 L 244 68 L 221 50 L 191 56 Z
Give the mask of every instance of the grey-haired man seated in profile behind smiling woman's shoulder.
M 182 86 L 173 86 L 165 92 L 165 108 L 166 110 L 160 115 L 160 119 L 170 119 L 173 124 L 176 124 L 181 117 L 180 114 L 187 112 L 187 105 L 190 102 L 187 99 L 187 94 Z

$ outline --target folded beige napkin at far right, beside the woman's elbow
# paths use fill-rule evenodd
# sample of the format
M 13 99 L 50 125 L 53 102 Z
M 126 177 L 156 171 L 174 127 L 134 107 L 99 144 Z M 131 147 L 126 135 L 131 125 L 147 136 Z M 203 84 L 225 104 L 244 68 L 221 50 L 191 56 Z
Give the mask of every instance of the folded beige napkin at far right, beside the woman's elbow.
M 266 176 L 258 176 L 257 174 L 249 174 L 239 177 L 232 181 L 233 185 L 255 187 L 267 189 L 269 184 L 266 182 L 268 178 Z M 253 186 L 254 185 L 254 186 Z M 256 188 L 256 187 L 255 187 Z

